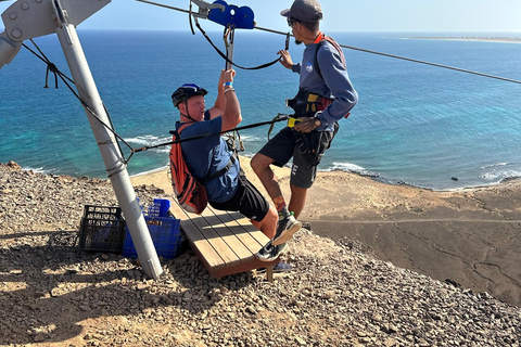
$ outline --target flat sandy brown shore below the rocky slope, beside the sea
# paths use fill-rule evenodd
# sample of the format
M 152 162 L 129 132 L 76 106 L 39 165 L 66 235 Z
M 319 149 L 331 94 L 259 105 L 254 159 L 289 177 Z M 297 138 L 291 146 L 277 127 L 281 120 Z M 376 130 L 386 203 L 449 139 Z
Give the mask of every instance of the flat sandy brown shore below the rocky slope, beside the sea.
M 266 194 L 249 158 L 241 164 Z M 289 174 L 276 170 L 284 196 Z M 166 169 L 132 182 L 171 194 Z M 520 306 L 520 181 L 433 192 L 336 171 L 318 174 L 300 219 L 318 235 L 359 241 L 381 260 Z

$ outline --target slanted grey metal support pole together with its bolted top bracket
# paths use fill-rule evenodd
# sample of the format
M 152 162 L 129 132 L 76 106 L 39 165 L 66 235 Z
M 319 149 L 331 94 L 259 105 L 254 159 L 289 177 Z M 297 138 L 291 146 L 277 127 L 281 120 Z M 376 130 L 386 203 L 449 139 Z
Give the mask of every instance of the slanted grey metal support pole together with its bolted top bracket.
M 5 31 L 0 34 L 0 68 L 11 62 L 24 40 L 56 33 L 79 97 L 87 107 L 112 129 L 76 33 L 78 24 L 110 2 L 111 0 L 18 0 L 14 2 L 1 15 Z M 87 107 L 85 112 L 132 235 L 143 271 L 148 277 L 157 280 L 163 269 L 130 183 L 123 154 L 118 150 L 114 134 L 100 124 Z

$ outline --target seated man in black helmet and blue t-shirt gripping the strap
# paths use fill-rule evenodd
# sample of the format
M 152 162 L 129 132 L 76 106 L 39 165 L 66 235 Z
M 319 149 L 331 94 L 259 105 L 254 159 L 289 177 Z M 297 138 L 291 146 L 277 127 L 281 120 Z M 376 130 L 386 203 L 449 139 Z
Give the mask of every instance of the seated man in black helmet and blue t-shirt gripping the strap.
M 179 110 L 180 121 L 176 130 L 181 139 L 215 133 L 198 140 L 181 142 L 182 156 L 190 172 L 206 187 L 208 203 L 220 210 L 240 211 L 266 236 L 272 239 L 277 227 L 277 211 L 243 175 L 239 157 L 218 134 L 230 130 L 242 120 L 241 106 L 233 89 L 232 69 L 223 70 L 217 87 L 217 99 L 205 110 L 207 91 L 187 83 L 173 94 L 174 106 Z M 283 247 L 258 255 L 265 261 L 276 259 Z

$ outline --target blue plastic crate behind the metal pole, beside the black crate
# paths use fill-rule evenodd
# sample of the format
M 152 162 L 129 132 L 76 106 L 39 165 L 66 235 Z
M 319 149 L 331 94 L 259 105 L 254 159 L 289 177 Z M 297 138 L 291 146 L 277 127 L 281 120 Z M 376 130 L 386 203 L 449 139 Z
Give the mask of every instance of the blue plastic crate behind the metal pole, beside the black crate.
M 179 219 L 170 217 L 144 216 L 149 227 L 152 242 L 154 243 L 157 256 L 165 259 L 174 259 L 179 255 L 185 237 L 181 235 Z M 123 256 L 137 258 L 138 253 L 132 242 L 132 236 L 126 228 L 125 240 L 123 242 Z

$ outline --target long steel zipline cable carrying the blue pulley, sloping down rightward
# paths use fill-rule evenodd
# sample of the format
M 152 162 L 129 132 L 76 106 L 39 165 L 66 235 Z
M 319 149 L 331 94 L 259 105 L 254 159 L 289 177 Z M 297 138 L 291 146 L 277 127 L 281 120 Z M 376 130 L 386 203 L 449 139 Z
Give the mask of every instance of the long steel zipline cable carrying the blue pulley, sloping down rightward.
M 151 4 L 151 5 L 162 7 L 162 8 L 166 8 L 166 9 L 169 9 L 169 10 L 176 10 L 176 11 L 180 11 L 180 12 L 185 12 L 185 13 L 192 13 L 192 12 L 183 10 L 183 9 L 169 7 L 169 5 L 153 2 L 153 1 L 148 1 L 148 0 L 135 0 L 135 1 L 144 2 L 144 3 Z M 262 31 L 267 31 L 267 33 L 271 33 L 271 34 L 283 35 L 283 36 L 290 35 L 288 33 L 274 30 L 274 29 L 269 29 L 269 28 L 264 28 L 264 27 L 259 27 L 257 25 L 255 25 L 254 29 L 262 30 Z M 481 76 L 481 77 L 487 77 L 487 78 L 493 78 L 493 79 L 498 79 L 498 80 L 503 80 L 503 81 L 507 81 L 507 82 L 521 85 L 521 81 L 517 80 L 517 79 L 511 79 L 511 78 L 506 78 L 506 77 L 500 77 L 500 76 L 495 76 L 495 75 L 490 75 L 490 74 L 483 74 L 483 73 L 473 72 L 473 70 L 470 70 L 470 69 L 465 69 L 465 68 L 454 67 L 454 66 L 449 66 L 449 65 L 443 65 L 443 64 L 437 64 L 437 63 L 420 61 L 420 60 L 417 60 L 417 59 L 405 57 L 405 56 L 395 55 L 395 54 L 389 54 L 389 53 L 382 53 L 382 52 L 378 52 L 378 51 L 366 50 L 366 49 L 356 48 L 356 47 L 346 46 L 346 44 L 339 44 L 339 46 L 342 47 L 342 48 L 348 49 L 348 50 L 354 50 L 354 51 L 359 51 L 359 52 L 365 52 L 365 53 L 370 53 L 370 54 L 377 54 L 377 55 L 382 55 L 382 56 L 386 56 L 386 57 L 393 57 L 393 59 L 403 60 L 403 61 L 407 61 L 407 62 L 411 62 L 411 63 L 418 63 L 418 64 L 423 64 L 423 65 L 429 65 L 429 66 L 434 66 L 434 67 L 440 67 L 440 68 L 446 68 L 446 69 L 452 69 L 452 70 L 456 70 L 456 72 L 460 72 L 460 73 L 466 73 L 466 74 L 471 74 L 471 75 L 476 75 L 476 76 Z

